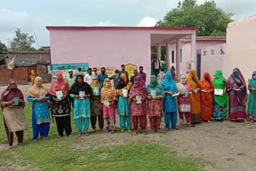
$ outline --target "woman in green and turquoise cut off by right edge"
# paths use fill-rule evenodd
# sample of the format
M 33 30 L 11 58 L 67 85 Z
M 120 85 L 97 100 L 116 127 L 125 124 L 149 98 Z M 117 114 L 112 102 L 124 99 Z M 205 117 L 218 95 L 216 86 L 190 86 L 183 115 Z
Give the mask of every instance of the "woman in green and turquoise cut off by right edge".
M 248 89 L 250 90 L 250 98 L 247 113 L 252 121 L 256 121 L 256 71 L 248 82 Z

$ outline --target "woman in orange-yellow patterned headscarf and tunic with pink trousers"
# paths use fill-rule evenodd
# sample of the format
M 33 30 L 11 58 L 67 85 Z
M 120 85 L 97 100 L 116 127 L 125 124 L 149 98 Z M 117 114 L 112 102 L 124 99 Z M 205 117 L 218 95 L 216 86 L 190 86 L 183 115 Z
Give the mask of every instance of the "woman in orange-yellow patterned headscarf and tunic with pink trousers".
M 106 132 L 115 133 L 116 101 L 117 92 L 111 85 L 110 79 L 106 78 L 101 92 L 101 102 L 103 104 L 103 117 L 106 125 Z

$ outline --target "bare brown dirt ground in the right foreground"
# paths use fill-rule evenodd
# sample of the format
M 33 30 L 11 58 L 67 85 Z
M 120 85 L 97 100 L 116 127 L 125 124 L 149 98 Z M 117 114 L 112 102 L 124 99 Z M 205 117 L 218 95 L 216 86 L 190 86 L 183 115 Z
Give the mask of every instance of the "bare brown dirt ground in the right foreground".
M 163 126 L 163 125 L 162 125 Z M 98 149 L 140 141 L 165 145 L 178 156 L 201 158 L 207 170 L 256 170 L 256 124 L 245 125 L 230 121 L 202 123 L 166 133 L 132 135 L 130 133 L 92 133 L 74 143 L 75 149 Z

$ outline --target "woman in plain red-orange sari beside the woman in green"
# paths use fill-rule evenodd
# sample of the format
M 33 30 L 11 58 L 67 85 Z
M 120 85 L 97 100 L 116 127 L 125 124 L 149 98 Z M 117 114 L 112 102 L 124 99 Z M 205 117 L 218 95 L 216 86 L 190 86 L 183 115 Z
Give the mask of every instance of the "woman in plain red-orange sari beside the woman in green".
M 201 107 L 202 107 L 202 121 L 210 122 L 213 115 L 214 108 L 214 82 L 210 74 L 206 72 L 200 81 L 201 86 Z

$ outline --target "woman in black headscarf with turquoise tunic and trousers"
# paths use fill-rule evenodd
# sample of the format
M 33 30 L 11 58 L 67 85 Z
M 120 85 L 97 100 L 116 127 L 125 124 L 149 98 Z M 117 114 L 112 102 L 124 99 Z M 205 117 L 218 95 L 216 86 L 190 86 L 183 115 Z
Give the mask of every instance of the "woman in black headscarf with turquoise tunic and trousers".
M 80 97 L 81 94 L 84 94 L 83 97 Z M 70 97 L 74 98 L 74 121 L 77 125 L 78 137 L 82 135 L 82 127 L 86 136 L 89 136 L 91 96 L 90 85 L 83 81 L 82 75 L 78 75 L 70 89 Z

